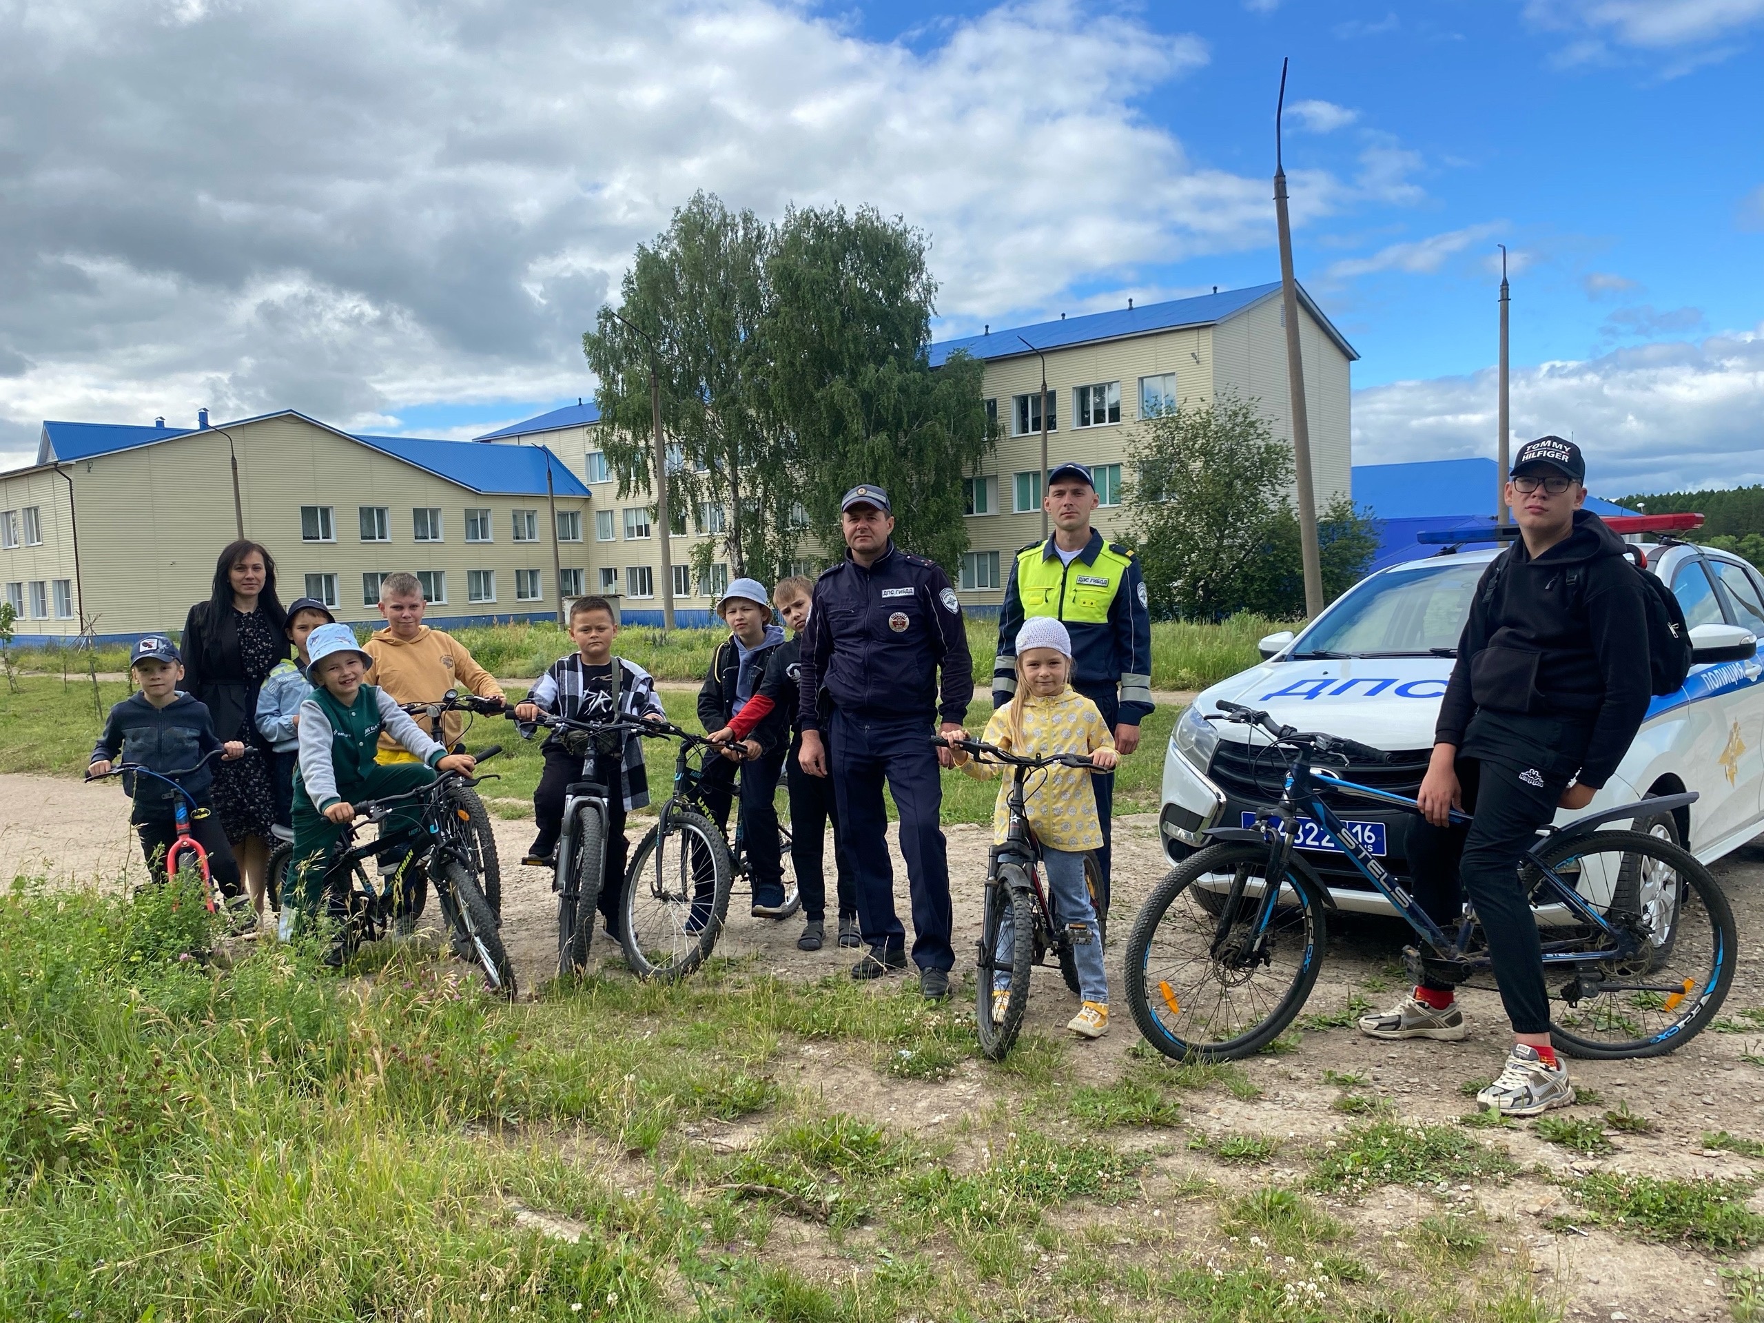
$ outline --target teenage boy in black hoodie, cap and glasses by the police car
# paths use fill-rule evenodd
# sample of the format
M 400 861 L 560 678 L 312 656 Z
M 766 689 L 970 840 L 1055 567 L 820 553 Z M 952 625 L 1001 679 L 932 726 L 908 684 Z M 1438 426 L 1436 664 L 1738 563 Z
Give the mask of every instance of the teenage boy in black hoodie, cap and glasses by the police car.
M 1558 808 L 1586 808 L 1648 713 L 1648 591 L 1623 542 L 1584 512 L 1586 460 L 1559 436 L 1519 448 L 1505 499 L 1519 538 L 1476 586 L 1439 704 L 1408 834 L 1416 898 L 1439 924 L 1462 893 L 1482 921 L 1514 1048 L 1476 1106 L 1535 1117 L 1573 1102 L 1549 1041 L 1536 919 L 1519 859 Z M 1492 593 L 1489 591 L 1492 584 Z M 1452 808 L 1475 820 L 1448 826 Z M 1387 1014 L 1360 1020 L 1376 1039 L 1462 1039 L 1450 984 L 1427 979 Z

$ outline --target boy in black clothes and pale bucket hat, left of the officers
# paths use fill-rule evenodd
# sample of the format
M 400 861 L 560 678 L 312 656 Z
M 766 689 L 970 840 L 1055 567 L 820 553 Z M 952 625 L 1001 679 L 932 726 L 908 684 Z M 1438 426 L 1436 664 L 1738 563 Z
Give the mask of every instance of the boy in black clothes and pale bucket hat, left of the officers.
M 711 654 L 699 690 L 699 721 L 711 739 L 729 743 L 723 760 L 704 767 L 704 803 L 721 827 L 729 827 L 736 769 L 741 769 L 741 820 L 753 877 L 753 917 L 783 917 L 783 848 L 778 841 L 778 776 L 783 773 L 783 713 L 767 714 L 734 748 L 729 723 L 759 693 L 767 654 L 783 642 L 783 630 L 771 623 L 766 586 L 737 579 L 716 602 L 716 614 L 729 626 L 729 639 Z

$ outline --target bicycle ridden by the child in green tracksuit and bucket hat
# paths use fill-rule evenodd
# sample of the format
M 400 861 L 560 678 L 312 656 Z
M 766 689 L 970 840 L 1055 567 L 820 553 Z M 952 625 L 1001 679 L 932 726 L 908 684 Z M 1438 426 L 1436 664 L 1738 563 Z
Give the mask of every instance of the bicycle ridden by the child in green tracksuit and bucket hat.
M 497 753 L 501 748 L 490 744 L 473 757 L 482 764 Z M 471 790 L 480 780 L 487 778 L 446 771 L 413 790 L 356 801 L 355 818 L 344 824 L 335 850 L 325 864 L 330 889 L 340 893 L 342 898 L 340 954 L 344 960 L 355 954 L 363 942 L 377 942 L 386 937 L 397 919 L 404 917 L 399 908 L 404 880 L 409 870 L 420 868 L 434 886 L 441 916 L 452 931 L 453 954 L 478 965 L 490 991 L 508 998 L 515 997 L 515 968 L 503 947 L 496 916 L 490 914 L 490 905 L 478 889 L 467 863 L 473 850 L 471 822 L 453 794 L 462 789 Z M 413 799 L 422 804 L 416 840 L 404 852 L 385 887 L 377 889 L 363 864 L 388 843 L 397 841 L 376 838 L 356 845 L 356 822 L 383 822 L 400 804 Z

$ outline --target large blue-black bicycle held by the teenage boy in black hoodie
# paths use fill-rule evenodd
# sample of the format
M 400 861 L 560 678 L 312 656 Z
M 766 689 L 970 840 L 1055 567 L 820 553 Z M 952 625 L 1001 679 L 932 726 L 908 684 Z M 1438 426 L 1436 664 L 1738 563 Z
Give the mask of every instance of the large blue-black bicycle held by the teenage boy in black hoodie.
M 1293 854 L 1305 818 L 1365 875 L 1415 930 L 1402 949 L 1409 981 L 1466 984 L 1491 968 L 1473 908 L 1445 931 L 1335 817 L 1323 792 L 1395 804 L 1406 796 L 1355 785 L 1314 760 L 1381 762 L 1379 750 L 1300 732 L 1267 713 L 1221 702 L 1208 720 L 1254 727 L 1286 764 L 1281 797 L 1252 827 L 1215 827 L 1212 845 L 1177 864 L 1140 908 L 1127 938 L 1125 986 L 1134 1023 L 1173 1058 L 1231 1060 L 1274 1041 L 1316 984 L 1325 951 L 1321 878 Z M 1521 863 L 1544 938 L 1551 1037 L 1584 1058 L 1656 1057 L 1708 1025 L 1734 979 L 1738 931 L 1709 871 L 1658 834 L 1602 831 L 1695 803 L 1693 792 L 1619 804 L 1538 834 Z M 1469 817 L 1452 811 L 1454 822 Z M 1196 889 L 1222 893 L 1217 912 Z M 1263 977 L 1267 974 L 1267 977 Z M 1154 1000 L 1155 997 L 1155 1000 Z

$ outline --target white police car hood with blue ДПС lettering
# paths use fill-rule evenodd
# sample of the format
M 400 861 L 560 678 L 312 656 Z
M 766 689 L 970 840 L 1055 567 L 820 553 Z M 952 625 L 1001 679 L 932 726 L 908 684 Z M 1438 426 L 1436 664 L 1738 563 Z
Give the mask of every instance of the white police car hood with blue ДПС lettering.
M 1224 699 L 1298 730 L 1327 730 L 1381 750 L 1418 750 L 1432 748 L 1450 676 L 1448 656 L 1267 662 L 1201 690 L 1194 706 L 1212 713 Z M 1215 729 L 1224 739 L 1247 737 L 1244 727 Z

